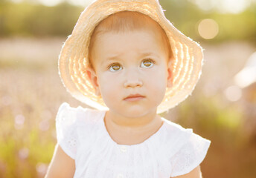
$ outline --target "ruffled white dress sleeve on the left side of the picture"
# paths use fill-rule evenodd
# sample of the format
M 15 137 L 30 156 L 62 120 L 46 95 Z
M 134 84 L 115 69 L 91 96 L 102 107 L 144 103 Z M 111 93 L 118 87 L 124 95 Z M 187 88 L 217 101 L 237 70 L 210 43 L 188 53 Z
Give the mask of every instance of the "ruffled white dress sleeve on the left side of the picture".
M 56 116 L 57 142 L 65 154 L 75 159 L 77 153 L 77 122 L 74 108 L 63 102 Z

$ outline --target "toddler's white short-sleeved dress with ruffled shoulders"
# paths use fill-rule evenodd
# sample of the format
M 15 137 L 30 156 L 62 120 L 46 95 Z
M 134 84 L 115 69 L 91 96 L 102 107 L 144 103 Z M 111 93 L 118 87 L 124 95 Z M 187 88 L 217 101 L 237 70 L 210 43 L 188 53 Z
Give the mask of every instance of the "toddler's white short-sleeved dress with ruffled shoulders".
M 75 160 L 74 178 L 169 178 L 187 174 L 207 154 L 211 141 L 164 120 L 159 131 L 136 145 L 119 145 L 104 123 L 106 111 L 60 105 L 57 142 Z

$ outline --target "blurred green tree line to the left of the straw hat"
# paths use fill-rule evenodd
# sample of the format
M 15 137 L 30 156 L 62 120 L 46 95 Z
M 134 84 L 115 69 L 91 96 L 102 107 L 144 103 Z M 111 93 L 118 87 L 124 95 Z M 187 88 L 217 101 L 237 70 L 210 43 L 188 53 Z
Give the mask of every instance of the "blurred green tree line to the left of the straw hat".
M 0 36 L 67 36 L 82 10 L 67 3 L 55 7 L 2 4 Z

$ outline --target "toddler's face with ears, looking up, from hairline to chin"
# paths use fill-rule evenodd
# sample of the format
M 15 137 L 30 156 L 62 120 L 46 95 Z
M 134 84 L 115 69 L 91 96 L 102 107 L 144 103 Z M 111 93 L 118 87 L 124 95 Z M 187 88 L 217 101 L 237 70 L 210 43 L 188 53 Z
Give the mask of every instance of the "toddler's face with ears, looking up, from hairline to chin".
M 160 35 L 151 30 L 104 33 L 96 39 L 91 80 L 109 111 L 127 117 L 156 113 L 172 84 L 164 49 Z M 126 99 L 132 94 L 143 97 Z

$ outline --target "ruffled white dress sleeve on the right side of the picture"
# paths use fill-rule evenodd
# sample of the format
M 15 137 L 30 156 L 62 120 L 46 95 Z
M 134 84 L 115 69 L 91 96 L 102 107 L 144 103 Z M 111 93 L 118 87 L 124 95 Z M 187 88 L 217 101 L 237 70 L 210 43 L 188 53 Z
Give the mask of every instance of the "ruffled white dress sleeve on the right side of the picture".
M 173 156 L 170 157 L 171 177 L 188 174 L 205 158 L 211 141 L 187 129 L 185 142 Z

